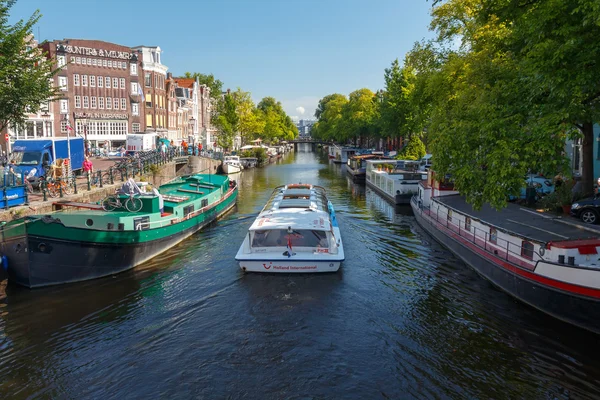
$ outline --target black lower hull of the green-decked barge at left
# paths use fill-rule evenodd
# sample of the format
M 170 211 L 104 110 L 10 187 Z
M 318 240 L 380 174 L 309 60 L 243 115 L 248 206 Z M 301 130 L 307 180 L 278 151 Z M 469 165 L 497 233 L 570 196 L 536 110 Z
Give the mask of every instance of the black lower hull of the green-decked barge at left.
M 194 225 L 165 238 L 135 244 L 98 244 L 56 240 L 29 235 L 7 241 L 13 249 L 9 266 L 9 281 L 29 288 L 81 282 L 127 271 L 170 249 L 195 232 L 214 222 L 235 206 L 235 202 L 215 218 Z M 26 241 L 28 251 L 18 244 Z M 40 244 L 42 244 L 42 251 Z M 20 251 L 14 249 L 20 248 Z M 51 251 L 48 251 L 51 249 Z

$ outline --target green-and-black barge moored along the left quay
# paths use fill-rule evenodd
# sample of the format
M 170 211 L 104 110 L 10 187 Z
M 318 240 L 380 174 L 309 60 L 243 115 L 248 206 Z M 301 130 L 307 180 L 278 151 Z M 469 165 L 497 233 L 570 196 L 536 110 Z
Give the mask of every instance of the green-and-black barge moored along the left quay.
M 124 207 L 105 211 L 91 203 L 55 203 L 62 210 L 0 227 L 0 253 L 8 261 L 8 279 L 36 288 L 131 269 L 227 213 L 235 206 L 237 193 L 236 183 L 227 176 L 197 174 L 136 195 L 142 202 L 138 212 Z M 129 199 L 121 197 L 123 203 Z

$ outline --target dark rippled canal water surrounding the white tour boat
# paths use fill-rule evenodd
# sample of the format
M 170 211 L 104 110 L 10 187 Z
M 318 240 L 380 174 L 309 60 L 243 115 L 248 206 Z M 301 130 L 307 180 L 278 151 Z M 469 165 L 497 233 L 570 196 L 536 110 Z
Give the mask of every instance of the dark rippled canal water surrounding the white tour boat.
M 497 290 L 326 155 L 301 148 L 238 180 L 235 212 L 144 266 L 9 286 L 0 398 L 598 398 L 598 336 Z M 244 274 L 234 261 L 289 182 L 327 188 L 338 273 Z

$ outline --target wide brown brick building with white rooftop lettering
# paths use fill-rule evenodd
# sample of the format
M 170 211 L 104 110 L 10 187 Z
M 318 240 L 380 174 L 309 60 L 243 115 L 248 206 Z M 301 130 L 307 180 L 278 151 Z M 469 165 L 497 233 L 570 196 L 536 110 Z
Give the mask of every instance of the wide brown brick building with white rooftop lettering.
M 85 137 L 91 148 L 115 149 L 125 145 L 127 133 L 144 131 L 143 107 L 135 91 L 143 70 L 131 48 L 83 39 L 55 40 L 41 47 L 60 68 L 54 80 L 62 95 L 50 104 L 55 136 L 74 133 Z

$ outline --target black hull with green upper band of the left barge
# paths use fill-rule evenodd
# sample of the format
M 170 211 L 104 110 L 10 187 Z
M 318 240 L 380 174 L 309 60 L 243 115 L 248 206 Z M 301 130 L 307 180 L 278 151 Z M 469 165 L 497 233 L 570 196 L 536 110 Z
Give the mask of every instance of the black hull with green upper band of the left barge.
M 153 230 L 115 232 L 119 235 L 117 243 L 99 243 L 89 240 L 90 233 L 77 232 L 76 228 L 61 228 L 58 223 L 49 223 L 45 229 L 49 232 L 68 232 L 69 235 L 81 234 L 83 240 L 57 238 L 51 234 L 40 235 L 38 227 L 27 228 L 26 235 L 5 239 L 2 251 L 8 255 L 11 263 L 8 268 L 9 281 L 29 288 L 79 282 L 114 275 L 140 265 L 160 253 L 175 246 L 195 232 L 212 223 L 231 210 L 236 204 L 237 188 L 214 207 L 198 216 L 157 228 L 164 231 L 162 237 L 143 240 L 143 237 L 155 234 Z M 36 221 L 35 224 L 44 224 Z M 52 226 L 55 225 L 55 226 Z M 127 237 L 129 240 L 127 240 Z M 86 239 L 87 238 L 87 239 Z

